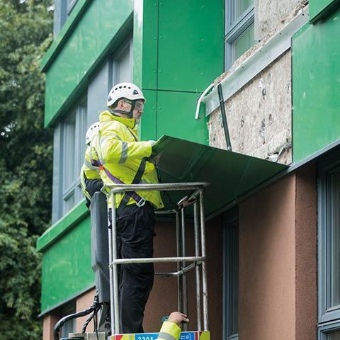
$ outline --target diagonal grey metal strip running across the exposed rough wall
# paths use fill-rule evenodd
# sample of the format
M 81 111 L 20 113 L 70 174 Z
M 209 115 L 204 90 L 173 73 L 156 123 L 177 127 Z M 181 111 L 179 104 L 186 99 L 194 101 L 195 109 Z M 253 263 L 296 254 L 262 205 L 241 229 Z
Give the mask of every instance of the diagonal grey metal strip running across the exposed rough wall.
M 238 69 L 223 79 L 221 84 L 225 101 L 288 50 L 291 47 L 292 35 L 308 22 L 308 18 L 308 6 L 305 6 L 293 21 L 276 33 L 263 47 L 256 50 Z M 212 89 L 203 101 L 205 102 L 205 115 L 210 115 L 219 106 L 217 88 Z

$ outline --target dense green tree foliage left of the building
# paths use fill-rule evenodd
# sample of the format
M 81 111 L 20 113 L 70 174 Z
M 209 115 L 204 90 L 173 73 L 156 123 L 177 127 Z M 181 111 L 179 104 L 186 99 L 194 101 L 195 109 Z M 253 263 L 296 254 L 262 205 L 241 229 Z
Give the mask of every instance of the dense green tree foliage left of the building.
M 50 224 L 52 132 L 39 63 L 51 0 L 0 0 L 0 340 L 42 339 L 38 235 Z

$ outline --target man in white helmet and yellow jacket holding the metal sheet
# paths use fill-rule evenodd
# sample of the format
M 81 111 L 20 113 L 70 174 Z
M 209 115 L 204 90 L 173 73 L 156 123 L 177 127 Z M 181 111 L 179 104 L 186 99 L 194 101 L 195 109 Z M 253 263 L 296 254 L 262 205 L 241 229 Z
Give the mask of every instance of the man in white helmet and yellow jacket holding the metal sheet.
M 99 116 L 98 135 L 91 143 L 105 185 L 158 183 L 157 171 L 148 157 L 153 141 L 141 142 L 136 125 L 144 112 L 145 97 L 138 86 L 120 83 L 108 94 L 108 111 Z M 153 256 L 154 209 L 163 208 L 159 191 L 137 191 L 115 196 L 118 258 Z M 111 214 L 109 213 L 109 218 Z M 152 263 L 119 266 L 120 329 L 142 333 L 145 305 L 154 282 Z

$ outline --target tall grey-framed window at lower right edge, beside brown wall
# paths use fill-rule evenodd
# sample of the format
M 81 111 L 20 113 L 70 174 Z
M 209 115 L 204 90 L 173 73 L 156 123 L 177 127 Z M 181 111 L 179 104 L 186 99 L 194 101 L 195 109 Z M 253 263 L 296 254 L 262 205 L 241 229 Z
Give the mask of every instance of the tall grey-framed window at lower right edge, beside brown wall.
M 331 340 L 340 339 L 339 159 L 337 152 L 320 162 L 318 184 L 319 339 Z

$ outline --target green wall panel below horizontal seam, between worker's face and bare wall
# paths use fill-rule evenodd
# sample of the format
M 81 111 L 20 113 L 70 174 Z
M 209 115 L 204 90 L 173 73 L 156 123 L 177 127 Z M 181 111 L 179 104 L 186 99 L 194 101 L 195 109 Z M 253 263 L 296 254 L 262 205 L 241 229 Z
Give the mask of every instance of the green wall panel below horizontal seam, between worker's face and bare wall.
M 205 118 L 195 119 L 197 94 L 158 91 L 157 138 L 162 135 L 208 145 Z

